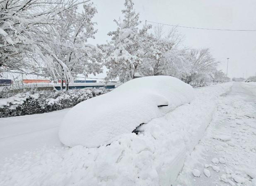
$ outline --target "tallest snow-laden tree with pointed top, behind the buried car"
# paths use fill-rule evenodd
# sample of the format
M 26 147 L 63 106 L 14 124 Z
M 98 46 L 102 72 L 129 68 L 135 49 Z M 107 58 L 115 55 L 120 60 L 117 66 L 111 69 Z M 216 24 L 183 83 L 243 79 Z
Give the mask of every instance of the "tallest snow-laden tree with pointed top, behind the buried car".
M 151 25 L 139 29 L 141 21 L 139 14 L 134 10 L 133 1 L 125 0 L 124 5 L 125 9 L 122 10 L 124 19 L 114 20 L 118 28 L 108 33 L 112 36 L 112 41 L 108 47 L 105 46 L 107 55 L 105 65 L 109 69 L 108 79 L 119 77 L 121 81 L 128 81 L 142 69 L 142 58 L 147 52 L 145 46 L 147 30 Z

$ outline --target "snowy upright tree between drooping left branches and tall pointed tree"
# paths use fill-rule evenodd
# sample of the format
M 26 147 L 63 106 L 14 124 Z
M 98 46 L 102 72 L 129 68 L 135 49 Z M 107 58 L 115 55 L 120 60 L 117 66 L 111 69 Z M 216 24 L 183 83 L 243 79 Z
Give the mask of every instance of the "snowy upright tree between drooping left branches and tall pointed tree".
M 59 14 L 60 21 L 53 38 L 56 42 L 50 43 L 53 52 L 58 59 L 63 61 L 72 76 L 80 74 L 96 74 L 102 72 L 102 52 L 94 45 L 87 43 L 89 38 L 94 38 L 97 30 L 94 30 L 92 18 L 97 13 L 92 4 L 84 4 L 83 12 L 77 12 L 77 6 Z M 50 36 L 50 37 L 51 37 Z M 59 74 L 63 72 L 63 67 L 59 65 Z M 67 89 L 69 77 L 62 74 Z

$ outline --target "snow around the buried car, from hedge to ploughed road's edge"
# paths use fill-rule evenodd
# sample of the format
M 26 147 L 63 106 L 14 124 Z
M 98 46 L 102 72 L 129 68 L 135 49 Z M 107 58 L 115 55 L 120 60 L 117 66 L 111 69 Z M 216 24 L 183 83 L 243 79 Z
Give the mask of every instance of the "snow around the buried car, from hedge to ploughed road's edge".
M 99 148 L 61 145 L 58 128 L 48 128 L 58 126 L 68 110 L 0 118 L 0 185 L 171 185 L 230 86 L 196 88 L 190 104 L 142 125 L 139 135 L 122 134 Z

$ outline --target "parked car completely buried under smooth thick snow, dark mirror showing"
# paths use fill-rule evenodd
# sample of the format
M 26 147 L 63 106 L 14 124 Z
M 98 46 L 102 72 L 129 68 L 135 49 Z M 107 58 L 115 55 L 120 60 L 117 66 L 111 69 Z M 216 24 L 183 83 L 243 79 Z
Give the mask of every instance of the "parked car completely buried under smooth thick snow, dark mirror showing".
M 193 88 L 174 77 L 133 79 L 73 107 L 63 118 L 60 141 L 71 147 L 109 144 L 121 134 L 131 133 L 140 124 L 190 103 L 193 97 Z M 163 105 L 167 106 L 161 107 Z

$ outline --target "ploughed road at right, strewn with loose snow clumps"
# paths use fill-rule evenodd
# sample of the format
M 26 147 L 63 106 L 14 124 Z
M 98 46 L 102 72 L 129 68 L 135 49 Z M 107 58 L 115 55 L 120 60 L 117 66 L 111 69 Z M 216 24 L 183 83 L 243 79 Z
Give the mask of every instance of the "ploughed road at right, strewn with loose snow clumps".
M 234 83 L 176 185 L 256 186 L 256 83 Z

